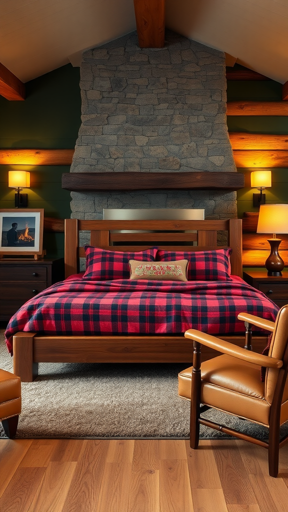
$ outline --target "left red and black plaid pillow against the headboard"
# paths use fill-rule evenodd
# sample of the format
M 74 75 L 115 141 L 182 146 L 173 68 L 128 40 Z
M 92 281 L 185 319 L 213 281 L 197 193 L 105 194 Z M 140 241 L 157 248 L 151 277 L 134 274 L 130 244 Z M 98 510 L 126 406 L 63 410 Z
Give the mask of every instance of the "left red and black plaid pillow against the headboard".
M 130 278 L 129 260 L 155 261 L 157 247 L 140 252 L 121 252 L 86 245 L 85 252 L 86 272 L 83 279 L 112 281 Z

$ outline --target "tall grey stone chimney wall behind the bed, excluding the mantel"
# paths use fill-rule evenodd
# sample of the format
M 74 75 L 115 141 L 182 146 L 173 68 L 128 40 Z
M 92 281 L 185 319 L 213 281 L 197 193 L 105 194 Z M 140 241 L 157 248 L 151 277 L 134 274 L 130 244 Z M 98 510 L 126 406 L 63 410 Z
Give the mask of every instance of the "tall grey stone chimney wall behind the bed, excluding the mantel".
M 226 123 L 224 54 L 167 32 L 140 49 L 133 32 L 83 53 L 82 124 L 71 172 L 111 172 L 108 193 L 71 193 L 72 217 L 102 208 L 205 208 L 236 217 L 236 193 L 113 191 L 113 172 L 236 172 Z

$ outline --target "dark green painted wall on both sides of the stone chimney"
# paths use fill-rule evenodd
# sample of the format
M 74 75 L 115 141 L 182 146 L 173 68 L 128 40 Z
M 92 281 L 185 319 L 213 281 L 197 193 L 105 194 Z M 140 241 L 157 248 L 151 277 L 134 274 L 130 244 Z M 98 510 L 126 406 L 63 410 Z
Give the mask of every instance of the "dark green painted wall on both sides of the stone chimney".
M 0 147 L 74 148 L 80 126 L 79 78 L 79 68 L 69 64 L 26 83 L 25 101 L 8 101 L 0 96 Z M 229 81 L 227 95 L 228 101 L 281 100 L 281 91 L 281 84 L 273 80 Z M 229 116 L 227 122 L 230 132 L 288 134 L 288 117 L 284 116 Z M 14 190 L 8 188 L 9 169 L 12 166 L 0 165 L 0 208 L 14 207 Z M 31 173 L 29 207 L 45 208 L 47 217 L 70 217 L 70 192 L 61 188 L 61 175 L 69 172 L 69 166 L 26 169 Z M 237 193 L 240 218 L 244 211 L 256 211 L 255 190 L 250 187 L 252 170 L 238 169 L 245 174 L 245 187 Z M 288 169 L 272 169 L 266 202 L 288 202 Z M 44 247 L 50 257 L 62 256 L 63 234 L 47 233 Z

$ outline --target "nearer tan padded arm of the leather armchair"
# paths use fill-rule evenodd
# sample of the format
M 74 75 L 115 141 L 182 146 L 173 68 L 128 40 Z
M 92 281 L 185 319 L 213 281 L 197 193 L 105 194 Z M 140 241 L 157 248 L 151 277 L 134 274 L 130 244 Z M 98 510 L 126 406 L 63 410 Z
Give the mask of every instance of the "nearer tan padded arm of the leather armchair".
M 218 350 L 223 354 L 231 355 L 242 361 L 252 362 L 254 365 L 264 366 L 265 368 L 281 368 L 283 361 L 275 357 L 269 357 L 263 354 L 257 354 L 251 350 L 246 350 L 233 343 L 225 342 L 223 339 L 211 336 L 196 329 L 189 329 L 184 334 L 186 338 L 191 338 L 198 343 L 206 345 L 214 350 Z

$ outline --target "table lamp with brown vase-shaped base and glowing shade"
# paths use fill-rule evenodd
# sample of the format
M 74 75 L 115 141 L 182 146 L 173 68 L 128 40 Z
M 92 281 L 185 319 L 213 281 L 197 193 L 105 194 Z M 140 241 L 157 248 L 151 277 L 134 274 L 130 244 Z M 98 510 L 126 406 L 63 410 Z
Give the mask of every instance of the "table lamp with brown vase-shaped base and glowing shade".
M 275 233 L 288 233 L 288 204 L 264 204 L 260 206 L 257 233 L 273 233 L 268 239 L 271 253 L 265 261 L 268 275 L 282 275 L 284 262 L 278 253 L 281 238 Z

